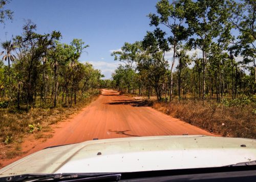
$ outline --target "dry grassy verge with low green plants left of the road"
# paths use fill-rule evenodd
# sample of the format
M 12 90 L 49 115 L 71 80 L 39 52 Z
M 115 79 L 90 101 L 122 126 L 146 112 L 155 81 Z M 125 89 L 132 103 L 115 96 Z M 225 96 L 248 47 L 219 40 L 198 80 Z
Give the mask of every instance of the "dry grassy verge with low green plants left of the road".
M 1 108 L 0 109 L 0 141 L 2 144 L 22 143 L 26 135 L 49 132 L 51 125 L 69 118 L 98 96 L 97 93 L 88 94 L 86 98 L 79 100 L 72 108 L 57 106 L 56 108 L 31 108 L 28 112 L 24 109 Z

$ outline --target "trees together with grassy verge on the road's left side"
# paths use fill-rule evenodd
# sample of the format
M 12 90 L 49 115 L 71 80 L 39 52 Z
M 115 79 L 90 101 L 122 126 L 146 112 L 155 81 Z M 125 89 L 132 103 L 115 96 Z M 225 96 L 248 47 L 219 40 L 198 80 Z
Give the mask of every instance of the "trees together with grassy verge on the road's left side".
M 0 23 L 13 18 L 14 12 L 5 8 L 8 3 L 0 0 Z M 61 43 L 60 32 L 38 34 L 31 20 L 22 29 L 22 34 L 0 42 L 2 147 L 47 132 L 51 124 L 86 106 L 99 94 L 104 76 L 78 61 L 89 47 L 81 39 Z

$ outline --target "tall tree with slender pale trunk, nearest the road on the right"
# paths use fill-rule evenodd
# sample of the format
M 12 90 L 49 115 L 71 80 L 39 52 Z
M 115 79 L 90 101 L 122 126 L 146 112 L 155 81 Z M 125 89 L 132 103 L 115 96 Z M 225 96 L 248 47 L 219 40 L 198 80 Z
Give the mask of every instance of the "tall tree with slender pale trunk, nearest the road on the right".
M 156 5 L 157 13 L 150 13 L 150 25 L 155 25 L 155 27 L 160 27 L 164 25 L 168 29 L 165 32 L 168 35 L 167 40 L 169 47 L 173 48 L 173 59 L 172 66 L 170 67 L 170 100 L 172 100 L 173 93 L 173 68 L 175 64 L 176 52 L 180 48 L 180 44 L 183 40 L 186 40 L 190 34 L 190 31 L 185 27 L 185 11 L 183 4 L 180 1 L 173 1 L 171 4 L 168 0 L 161 0 Z M 169 35 L 170 34 L 170 35 Z M 165 43 L 165 42 L 163 42 Z

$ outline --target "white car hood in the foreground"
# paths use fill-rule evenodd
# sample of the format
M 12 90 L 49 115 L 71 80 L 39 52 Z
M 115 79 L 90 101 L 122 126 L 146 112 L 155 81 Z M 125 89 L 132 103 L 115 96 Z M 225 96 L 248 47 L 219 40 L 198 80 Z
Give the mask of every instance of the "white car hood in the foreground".
M 221 167 L 256 160 L 256 140 L 209 136 L 131 137 L 47 148 L 0 170 L 33 173 L 135 172 Z

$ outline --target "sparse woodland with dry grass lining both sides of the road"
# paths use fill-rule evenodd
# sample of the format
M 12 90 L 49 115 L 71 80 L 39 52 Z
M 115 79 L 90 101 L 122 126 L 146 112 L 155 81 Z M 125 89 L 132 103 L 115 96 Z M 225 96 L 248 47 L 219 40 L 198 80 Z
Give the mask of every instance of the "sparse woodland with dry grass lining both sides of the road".
M 15 15 L 9 3 L 0 0 L 1 24 Z M 213 133 L 256 138 L 255 1 L 161 0 L 156 12 L 148 12 L 153 31 L 113 51 L 120 65 L 110 80 L 78 61 L 89 45 L 39 34 L 30 20 L 0 42 L 2 142 L 47 131 L 100 88 L 156 98 L 153 108 Z

